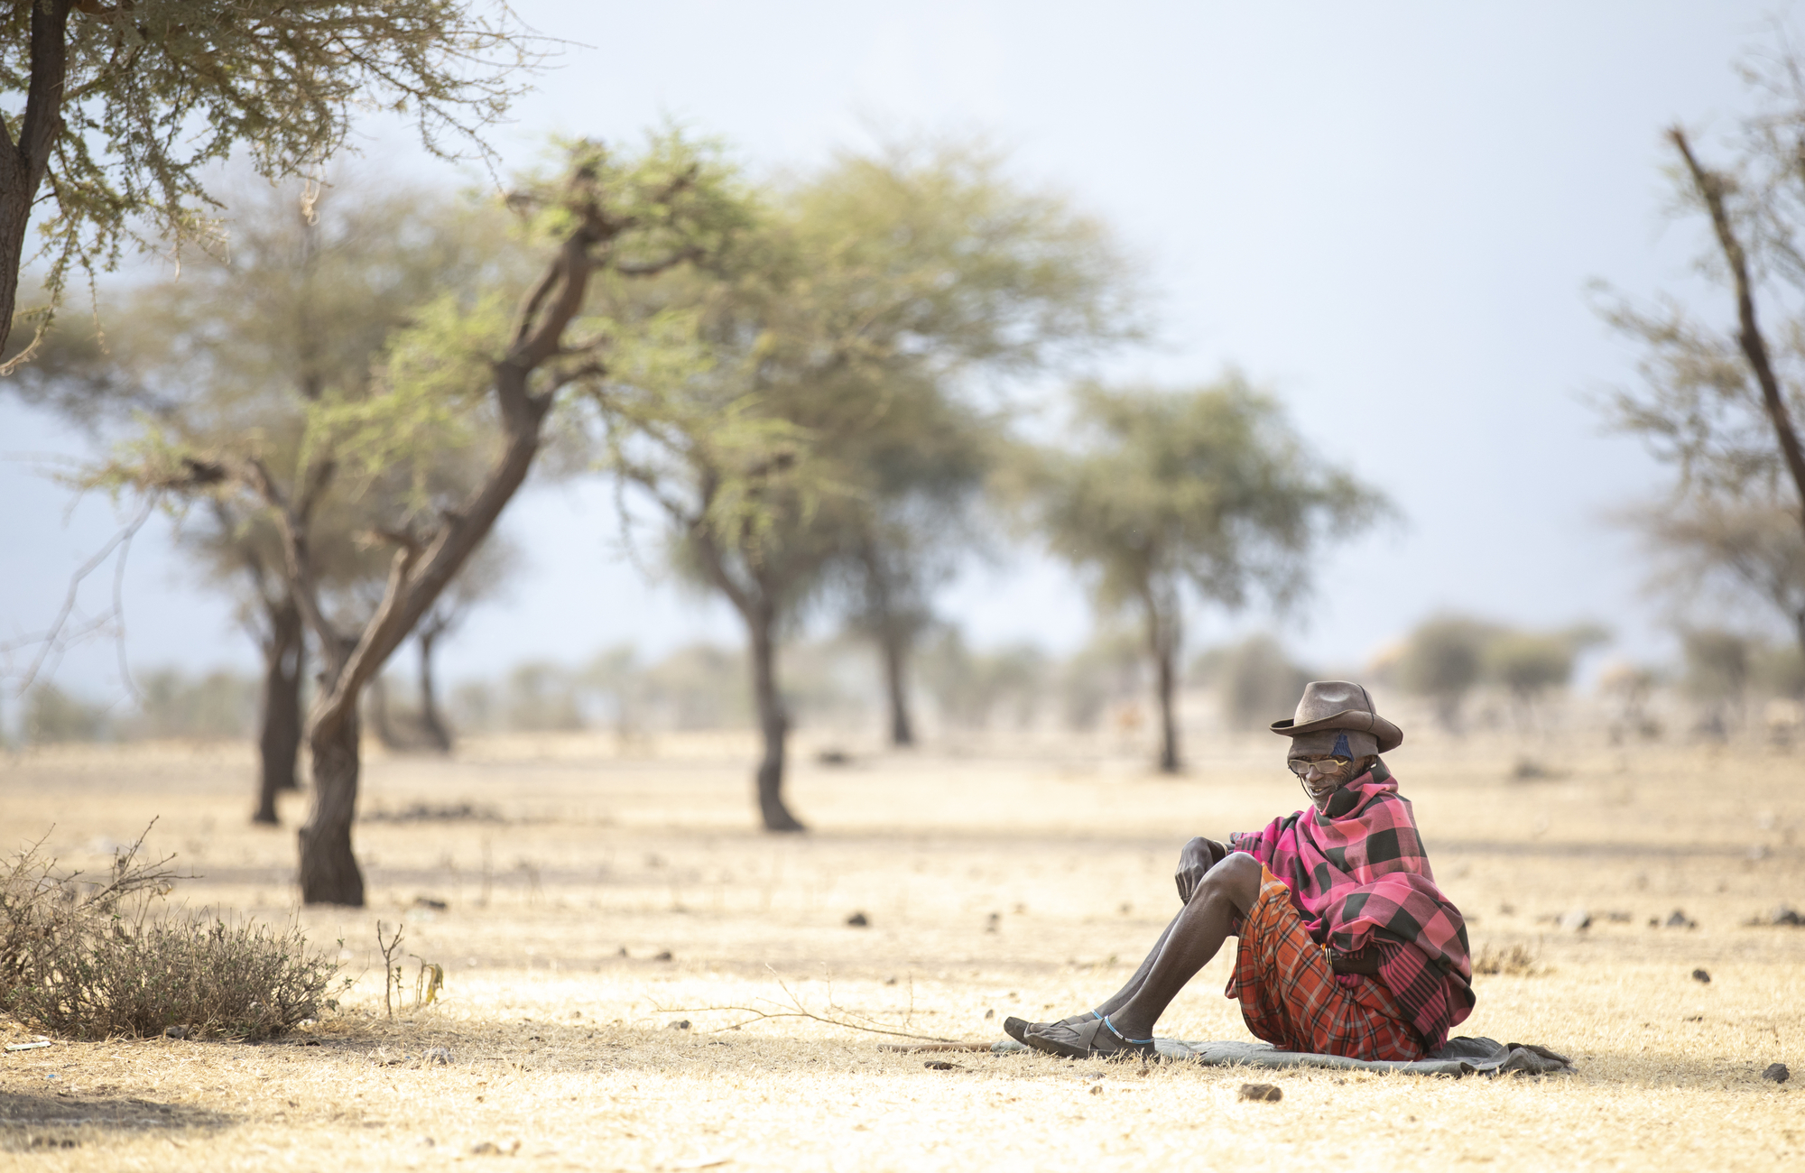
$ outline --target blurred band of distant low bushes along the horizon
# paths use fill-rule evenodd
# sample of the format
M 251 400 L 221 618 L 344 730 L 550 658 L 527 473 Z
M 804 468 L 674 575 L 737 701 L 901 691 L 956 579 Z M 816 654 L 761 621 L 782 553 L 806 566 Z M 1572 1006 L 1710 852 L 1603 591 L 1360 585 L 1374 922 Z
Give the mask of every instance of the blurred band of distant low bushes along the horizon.
M 1357 671 L 1298 664 L 1274 637 L 1258 633 L 1193 657 L 1184 684 L 1209 702 L 1199 706 L 1195 720 L 1231 731 L 1285 716 L 1303 684 L 1325 675 L 1357 675 L 1417 697 L 1453 734 L 1536 729 L 1569 700 L 1578 659 L 1601 642 L 1605 633 L 1588 626 L 1523 632 L 1437 615 Z M 875 736 L 884 697 L 868 642 L 818 639 L 785 655 L 785 706 L 798 727 Z M 525 660 L 502 677 L 462 680 L 451 688 L 446 711 L 457 734 L 751 729 L 756 713 L 744 670 L 745 653 L 731 646 L 697 642 L 657 660 L 616 646 L 581 664 Z M 1137 733 L 1152 718 L 1146 659 L 1132 632 L 1105 632 L 1076 653 L 1054 655 L 1027 642 L 975 650 L 957 628 L 942 626 L 922 642 L 915 679 L 926 727 L 940 736 Z M 20 740 L 255 736 L 258 680 L 247 673 L 161 670 L 143 673 L 137 686 L 137 704 L 114 706 L 38 686 L 25 697 Z M 1805 655 L 1791 641 L 1724 630 L 1680 632 L 1679 664 L 1614 659 L 1594 677 L 1594 700 L 1605 706 L 1608 733 L 1617 738 L 1727 736 L 1751 724 L 1751 704 L 1776 698 L 1805 700 Z M 419 689 L 399 671 L 366 698 L 365 724 L 393 749 L 426 744 Z

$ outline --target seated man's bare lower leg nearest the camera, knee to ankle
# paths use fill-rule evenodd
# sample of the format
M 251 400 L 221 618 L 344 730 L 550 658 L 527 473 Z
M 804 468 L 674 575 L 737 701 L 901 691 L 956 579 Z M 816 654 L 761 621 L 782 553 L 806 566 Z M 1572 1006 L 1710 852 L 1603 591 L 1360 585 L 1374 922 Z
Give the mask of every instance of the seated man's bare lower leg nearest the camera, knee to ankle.
M 1260 895 L 1260 861 L 1245 852 L 1226 857 L 1204 873 L 1189 902 L 1161 933 L 1141 967 L 1115 994 L 1097 1005 L 1119 1034 L 1153 1036 L 1184 984 L 1197 976 L 1227 940 L 1229 924 L 1245 915 Z

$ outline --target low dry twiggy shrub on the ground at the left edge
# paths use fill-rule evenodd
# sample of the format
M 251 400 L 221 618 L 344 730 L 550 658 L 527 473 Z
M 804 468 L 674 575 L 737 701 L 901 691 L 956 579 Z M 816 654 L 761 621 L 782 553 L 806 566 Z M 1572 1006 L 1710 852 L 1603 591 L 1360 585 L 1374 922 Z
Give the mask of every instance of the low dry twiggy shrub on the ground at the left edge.
M 148 832 L 148 828 L 146 828 Z M 168 911 L 168 859 L 114 855 L 112 877 L 56 873 L 42 843 L 0 875 L 0 1011 L 67 1038 L 191 1034 L 262 1039 L 319 1012 L 338 965 L 296 926 Z

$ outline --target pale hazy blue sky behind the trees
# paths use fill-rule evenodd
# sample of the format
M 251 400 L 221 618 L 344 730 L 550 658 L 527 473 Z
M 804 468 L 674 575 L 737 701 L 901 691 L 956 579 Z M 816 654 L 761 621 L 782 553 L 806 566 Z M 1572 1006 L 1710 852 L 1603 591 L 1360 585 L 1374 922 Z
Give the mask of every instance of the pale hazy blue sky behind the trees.
M 572 43 L 502 132 L 511 166 L 551 132 L 621 139 L 664 115 L 756 170 L 807 166 L 874 128 L 984 132 L 1022 177 L 1110 220 L 1148 262 L 1162 323 L 1161 345 L 1110 375 L 1182 384 L 1236 365 L 1404 513 L 1323 561 L 1314 603 L 1285 624 L 1305 662 L 1357 666 L 1437 608 L 1603 621 L 1614 653 L 1662 651 L 1634 549 L 1601 514 L 1664 475 L 1587 404 L 1634 379 L 1587 283 L 1688 282 L 1700 233 L 1666 218 L 1661 130 L 1680 119 L 1718 144 L 1745 108 L 1733 61 L 1773 43 L 1785 5 L 516 7 Z M 460 182 L 397 137 L 372 144 L 384 166 Z M 70 509 L 42 475 L 45 455 L 79 451 L 0 395 L 0 639 L 43 626 L 116 527 L 110 503 Z M 527 572 L 448 648 L 451 677 L 738 637 L 724 608 L 623 558 L 599 485 L 532 489 L 504 527 Z M 101 576 L 83 606 L 110 590 Z M 134 668 L 255 662 L 161 522 L 123 597 Z M 980 644 L 1065 650 L 1092 626 L 1072 577 L 1031 552 L 973 570 L 942 610 Z M 1262 623 L 1199 614 L 1193 644 Z M 58 679 L 117 693 L 112 648 L 72 651 Z

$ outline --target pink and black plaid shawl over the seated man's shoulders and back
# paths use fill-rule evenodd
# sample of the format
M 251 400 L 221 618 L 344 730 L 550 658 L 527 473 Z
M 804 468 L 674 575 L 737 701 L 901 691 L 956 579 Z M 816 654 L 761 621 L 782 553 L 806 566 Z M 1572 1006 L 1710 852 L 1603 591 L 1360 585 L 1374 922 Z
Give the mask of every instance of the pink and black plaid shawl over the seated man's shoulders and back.
M 1430 872 L 1410 801 L 1381 762 L 1316 807 L 1229 836 L 1291 888 L 1318 944 L 1336 953 L 1379 951 L 1379 980 L 1435 1050 L 1473 1012 L 1466 920 Z M 1357 980 L 1357 978 L 1354 978 Z

